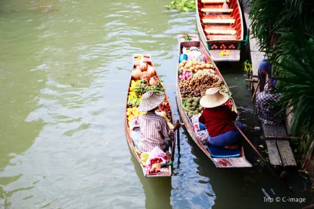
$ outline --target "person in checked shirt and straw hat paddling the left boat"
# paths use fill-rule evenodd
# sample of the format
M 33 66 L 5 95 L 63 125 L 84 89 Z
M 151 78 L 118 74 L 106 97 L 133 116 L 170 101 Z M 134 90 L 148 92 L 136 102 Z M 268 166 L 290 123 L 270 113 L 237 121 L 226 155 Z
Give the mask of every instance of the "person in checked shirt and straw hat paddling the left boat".
M 180 128 L 180 123 L 176 123 L 171 130 L 168 127 L 165 119 L 157 115 L 155 110 L 165 99 L 164 94 L 156 94 L 153 91 L 148 91 L 142 95 L 142 101 L 138 106 L 138 111 L 147 113 L 138 118 L 141 131 L 141 138 L 137 143 L 137 148 L 142 152 L 150 152 L 155 147 L 166 151 L 168 143 L 165 139 L 174 137 L 174 131 Z

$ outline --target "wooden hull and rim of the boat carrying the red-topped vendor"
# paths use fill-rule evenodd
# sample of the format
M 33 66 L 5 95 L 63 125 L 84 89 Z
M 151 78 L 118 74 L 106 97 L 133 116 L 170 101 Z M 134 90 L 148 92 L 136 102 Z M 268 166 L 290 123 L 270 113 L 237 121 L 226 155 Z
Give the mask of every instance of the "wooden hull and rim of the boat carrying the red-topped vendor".
M 183 35 L 178 36 L 178 41 L 179 41 L 179 55 L 182 54 L 182 49 L 183 47 L 185 48 L 190 48 L 190 47 L 199 47 L 200 52 L 202 52 L 207 60 L 207 63 L 211 62 L 213 65 L 213 69 L 216 72 L 216 75 L 220 77 L 224 83 L 224 85 L 227 87 L 229 90 L 227 83 L 225 82 L 224 78 L 221 76 L 217 66 L 214 64 L 213 60 L 210 58 L 209 53 L 207 52 L 206 48 L 204 45 L 198 40 L 196 34 L 189 34 L 190 38 L 192 39 L 191 41 L 184 41 Z M 177 98 L 177 104 L 179 107 L 179 112 L 181 115 L 181 118 L 183 120 L 184 126 L 186 130 L 189 132 L 190 136 L 194 140 L 194 142 L 198 145 L 198 147 L 211 159 L 211 161 L 215 164 L 216 167 L 219 168 L 234 168 L 234 167 L 252 167 L 251 163 L 247 161 L 247 159 L 244 157 L 244 150 L 243 150 L 243 143 L 242 147 L 240 148 L 240 157 L 230 157 L 230 158 L 215 158 L 211 157 L 209 150 L 205 148 L 205 146 L 200 142 L 200 140 L 197 138 L 195 132 L 193 131 L 192 123 L 190 122 L 190 119 L 188 118 L 186 112 L 184 111 L 182 107 L 182 96 L 181 96 L 181 91 L 180 91 L 180 86 L 179 86 L 179 62 L 178 62 L 178 67 L 177 67 L 177 80 L 176 80 L 176 98 Z M 232 100 L 233 103 L 233 110 L 236 112 L 236 106 L 234 100 Z

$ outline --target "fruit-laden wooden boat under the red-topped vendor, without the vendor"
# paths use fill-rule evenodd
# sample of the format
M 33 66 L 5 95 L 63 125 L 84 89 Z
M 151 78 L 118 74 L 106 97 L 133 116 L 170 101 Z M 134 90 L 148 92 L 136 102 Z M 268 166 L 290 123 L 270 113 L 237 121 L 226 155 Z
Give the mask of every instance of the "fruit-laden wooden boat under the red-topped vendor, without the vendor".
M 247 161 L 244 156 L 244 149 L 243 143 L 241 143 L 241 147 L 238 149 L 223 149 L 223 148 L 215 148 L 212 146 L 206 147 L 201 143 L 198 136 L 194 132 L 192 122 L 190 120 L 191 116 L 197 115 L 201 113 L 203 107 L 199 105 L 199 98 L 200 96 L 205 94 L 205 90 L 212 87 L 219 87 L 222 91 L 225 91 L 229 95 L 231 95 L 227 83 L 225 82 L 224 78 L 220 74 L 217 66 L 210 58 L 209 53 L 205 49 L 204 45 L 199 41 L 196 34 L 189 34 L 190 41 L 184 40 L 184 35 L 178 36 L 179 41 L 179 62 L 177 66 L 177 80 L 176 80 L 176 98 L 177 104 L 179 107 L 179 112 L 182 117 L 184 126 L 186 130 L 189 132 L 190 136 L 194 140 L 194 142 L 198 145 L 198 147 L 211 159 L 211 161 L 215 164 L 216 167 L 219 168 L 234 168 L 234 167 L 252 167 L 251 163 Z M 192 59 L 193 64 L 190 60 L 187 62 L 184 61 L 184 53 L 187 53 L 190 56 L 195 56 L 199 59 Z M 201 54 L 201 55 L 200 55 Z M 185 64 L 184 64 L 185 63 Z M 190 66 L 192 65 L 192 66 Z M 185 72 L 185 75 L 183 73 Z M 186 72 L 188 72 L 186 76 Z M 181 73 L 181 74 L 180 74 Z M 180 75 L 179 75 L 180 74 Z M 186 87 L 186 81 L 192 74 L 193 78 L 192 85 L 193 88 Z M 200 75 L 198 75 L 200 74 Z M 203 75 L 203 76 L 202 76 Z M 199 77 L 201 76 L 201 77 Z M 199 81 L 195 79 L 204 78 L 206 77 L 205 81 Z M 180 82 L 181 80 L 183 82 Z M 208 81 L 209 80 L 209 81 Z M 188 81 L 190 83 L 190 81 Z M 199 89 L 197 85 L 202 85 L 202 91 L 198 91 L 195 89 Z M 181 88 L 182 87 L 182 88 Z M 196 107 L 196 112 L 194 111 L 194 107 L 190 107 L 189 110 L 186 109 L 185 103 L 188 102 L 186 98 L 190 98 L 192 95 L 192 100 L 196 103 L 194 105 L 198 105 Z M 197 104 L 198 103 L 198 104 Z M 233 111 L 236 112 L 236 106 L 233 99 L 230 99 L 226 105 L 229 105 Z M 194 112 L 190 114 L 191 108 Z M 207 139 L 206 139 L 207 140 Z

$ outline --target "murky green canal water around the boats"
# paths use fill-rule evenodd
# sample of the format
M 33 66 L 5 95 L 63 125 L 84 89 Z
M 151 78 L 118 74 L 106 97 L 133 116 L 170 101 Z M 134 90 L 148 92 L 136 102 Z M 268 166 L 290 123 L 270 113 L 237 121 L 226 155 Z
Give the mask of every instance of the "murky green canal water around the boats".
M 153 55 L 178 118 L 176 35 L 196 29 L 194 13 L 166 11 L 167 3 L 0 1 L 0 208 L 301 207 L 265 203 L 262 188 L 288 195 L 267 168 L 216 169 L 183 129 L 172 178 L 143 177 L 123 125 L 131 55 Z M 220 70 L 239 86 L 240 118 L 254 128 L 241 67 Z

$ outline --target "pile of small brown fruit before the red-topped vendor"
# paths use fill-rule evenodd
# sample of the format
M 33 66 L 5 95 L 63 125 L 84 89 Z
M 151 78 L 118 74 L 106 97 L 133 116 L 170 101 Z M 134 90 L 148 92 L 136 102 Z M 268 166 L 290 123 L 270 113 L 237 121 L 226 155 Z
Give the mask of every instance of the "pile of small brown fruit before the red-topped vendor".
M 197 75 L 193 78 L 180 80 L 180 91 L 183 98 L 204 96 L 209 88 L 221 88 L 223 81 L 221 78 L 214 75 Z

